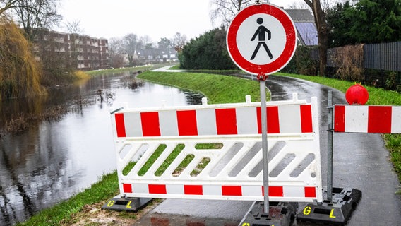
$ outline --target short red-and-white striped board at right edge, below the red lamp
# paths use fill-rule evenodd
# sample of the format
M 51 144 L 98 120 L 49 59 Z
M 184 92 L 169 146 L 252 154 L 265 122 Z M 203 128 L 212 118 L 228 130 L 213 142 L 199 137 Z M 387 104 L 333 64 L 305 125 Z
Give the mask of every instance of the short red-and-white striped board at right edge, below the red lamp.
M 334 131 L 339 133 L 401 133 L 401 107 L 335 105 Z

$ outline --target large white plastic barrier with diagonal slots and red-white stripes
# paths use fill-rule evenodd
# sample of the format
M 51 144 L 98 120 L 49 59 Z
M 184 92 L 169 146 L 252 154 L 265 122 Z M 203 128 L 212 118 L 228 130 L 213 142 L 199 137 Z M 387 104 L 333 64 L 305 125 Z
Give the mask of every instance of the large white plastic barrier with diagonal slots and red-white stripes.
M 270 201 L 323 201 L 316 102 L 268 102 Z M 121 196 L 263 201 L 260 112 L 247 101 L 115 113 Z

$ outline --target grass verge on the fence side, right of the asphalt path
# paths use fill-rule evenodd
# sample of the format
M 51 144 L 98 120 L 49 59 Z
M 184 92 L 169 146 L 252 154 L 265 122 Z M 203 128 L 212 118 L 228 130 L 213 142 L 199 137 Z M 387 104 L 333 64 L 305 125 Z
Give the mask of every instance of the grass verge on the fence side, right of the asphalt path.
M 354 85 L 354 83 L 349 81 L 340 81 L 318 76 L 301 76 L 287 73 L 277 73 L 277 75 L 301 78 L 307 81 L 320 83 L 340 90 L 343 93 L 345 93 L 351 85 Z M 396 91 L 373 88 L 370 86 L 365 86 L 365 88 L 369 92 L 369 101 L 366 105 L 401 105 L 401 94 Z M 390 151 L 391 162 L 393 162 L 395 172 L 398 175 L 398 179 L 401 181 L 401 134 L 384 134 L 383 139 L 385 141 L 385 147 Z M 397 194 L 401 194 L 401 190 L 398 191 Z

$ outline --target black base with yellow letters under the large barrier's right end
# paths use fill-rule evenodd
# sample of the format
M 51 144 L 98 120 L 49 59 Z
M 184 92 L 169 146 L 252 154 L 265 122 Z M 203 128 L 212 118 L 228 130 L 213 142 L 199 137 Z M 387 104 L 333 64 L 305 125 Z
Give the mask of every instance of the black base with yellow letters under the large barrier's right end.
M 323 194 L 327 197 L 327 191 Z M 357 189 L 333 188 L 333 203 L 308 203 L 298 213 L 297 220 L 301 222 L 314 222 L 324 225 L 345 225 L 362 197 L 362 191 Z

